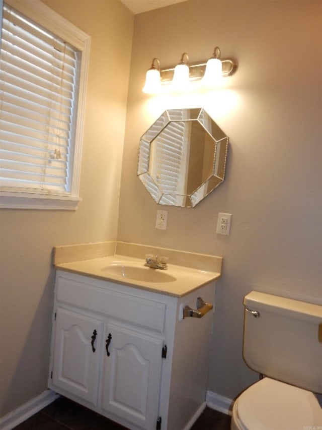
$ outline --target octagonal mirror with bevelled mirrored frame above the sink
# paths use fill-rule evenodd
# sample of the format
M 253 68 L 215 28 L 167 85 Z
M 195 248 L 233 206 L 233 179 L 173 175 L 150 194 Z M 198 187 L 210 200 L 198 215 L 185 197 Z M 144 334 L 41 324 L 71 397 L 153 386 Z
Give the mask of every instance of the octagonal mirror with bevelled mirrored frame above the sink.
M 192 208 L 223 181 L 227 148 L 204 109 L 166 110 L 140 139 L 137 175 L 156 203 Z

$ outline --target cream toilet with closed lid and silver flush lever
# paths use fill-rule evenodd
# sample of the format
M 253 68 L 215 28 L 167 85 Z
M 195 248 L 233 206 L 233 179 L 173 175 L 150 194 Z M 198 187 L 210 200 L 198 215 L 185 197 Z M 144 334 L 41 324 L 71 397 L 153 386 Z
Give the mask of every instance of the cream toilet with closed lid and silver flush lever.
M 239 395 L 231 430 L 322 430 L 322 305 L 244 297 L 246 364 L 265 377 Z

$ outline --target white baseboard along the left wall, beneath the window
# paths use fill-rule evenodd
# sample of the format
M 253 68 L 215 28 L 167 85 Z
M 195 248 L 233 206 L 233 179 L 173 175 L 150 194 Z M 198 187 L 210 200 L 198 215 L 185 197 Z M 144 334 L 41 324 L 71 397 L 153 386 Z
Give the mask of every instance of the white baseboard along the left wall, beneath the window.
M 46 390 L 39 396 L 0 418 L 0 430 L 12 430 L 35 413 L 58 399 L 59 394 L 52 390 Z

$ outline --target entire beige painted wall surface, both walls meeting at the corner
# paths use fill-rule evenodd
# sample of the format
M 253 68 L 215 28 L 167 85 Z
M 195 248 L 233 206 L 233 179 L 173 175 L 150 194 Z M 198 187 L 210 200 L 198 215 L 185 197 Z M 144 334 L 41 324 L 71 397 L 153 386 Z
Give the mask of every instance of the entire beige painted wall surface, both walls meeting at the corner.
M 117 0 L 44 3 L 92 36 L 83 202 L 0 211 L 0 415 L 47 387 L 52 247 L 115 238 L 224 257 L 209 389 L 233 398 L 256 378 L 241 357 L 245 293 L 322 299 L 322 3 L 190 0 L 136 16 L 127 111 L 132 14 Z M 154 56 L 198 61 L 215 45 L 239 61 L 222 91 L 141 92 Z M 205 107 L 229 135 L 226 179 L 194 209 L 158 206 L 135 177 L 139 138 L 164 109 L 186 106 Z M 166 231 L 154 229 L 157 209 L 169 211 Z M 228 237 L 215 234 L 219 211 L 233 214 Z

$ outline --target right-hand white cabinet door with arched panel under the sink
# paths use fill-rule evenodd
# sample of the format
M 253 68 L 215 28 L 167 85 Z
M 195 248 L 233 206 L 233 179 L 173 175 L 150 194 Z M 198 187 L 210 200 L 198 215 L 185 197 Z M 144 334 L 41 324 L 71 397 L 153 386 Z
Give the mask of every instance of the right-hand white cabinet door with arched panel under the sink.
M 102 409 L 142 428 L 155 428 L 159 408 L 163 339 L 107 324 Z

